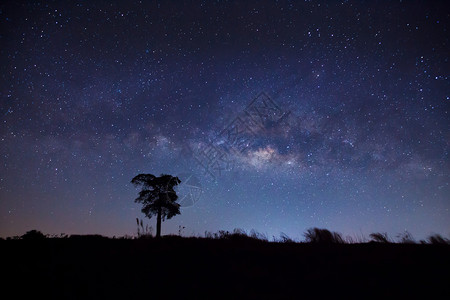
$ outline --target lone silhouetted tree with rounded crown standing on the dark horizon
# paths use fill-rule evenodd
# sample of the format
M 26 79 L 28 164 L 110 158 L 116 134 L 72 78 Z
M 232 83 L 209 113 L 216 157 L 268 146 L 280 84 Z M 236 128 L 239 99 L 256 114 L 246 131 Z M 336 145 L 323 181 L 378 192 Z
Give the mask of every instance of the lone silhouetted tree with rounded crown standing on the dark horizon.
M 173 189 L 180 184 L 178 177 L 161 174 L 139 174 L 131 180 L 135 186 L 141 186 L 136 203 L 142 203 L 142 212 L 147 218 L 156 215 L 156 237 L 161 236 L 161 219 L 170 219 L 180 214 L 180 204 L 176 203 L 178 195 Z

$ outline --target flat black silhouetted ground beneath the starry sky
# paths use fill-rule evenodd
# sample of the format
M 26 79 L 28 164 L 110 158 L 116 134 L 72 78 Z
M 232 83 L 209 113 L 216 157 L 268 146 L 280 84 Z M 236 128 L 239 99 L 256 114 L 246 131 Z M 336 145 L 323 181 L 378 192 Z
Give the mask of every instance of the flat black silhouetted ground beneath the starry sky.
M 449 245 L 84 236 L 0 249 L 11 299 L 450 299 Z

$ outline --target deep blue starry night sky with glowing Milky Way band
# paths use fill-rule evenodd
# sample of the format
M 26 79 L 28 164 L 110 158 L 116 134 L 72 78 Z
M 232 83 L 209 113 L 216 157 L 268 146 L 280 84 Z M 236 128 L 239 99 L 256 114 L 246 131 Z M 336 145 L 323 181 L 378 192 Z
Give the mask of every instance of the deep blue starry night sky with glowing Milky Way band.
M 2 1 L 0 236 L 134 235 L 130 181 L 165 173 L 163 234 L 448 237 L 448 25 L 445 1 Z

